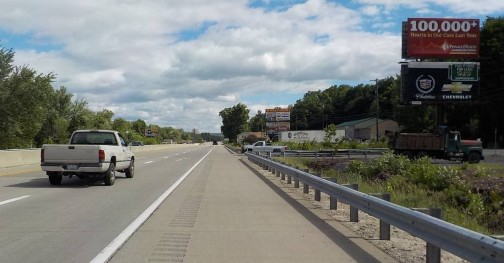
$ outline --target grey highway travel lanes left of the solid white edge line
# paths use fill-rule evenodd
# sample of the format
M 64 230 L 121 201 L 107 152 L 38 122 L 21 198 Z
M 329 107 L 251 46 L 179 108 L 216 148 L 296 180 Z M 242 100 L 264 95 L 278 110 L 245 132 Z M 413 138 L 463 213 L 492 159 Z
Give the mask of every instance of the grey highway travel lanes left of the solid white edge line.
M 135 177 L 117 173 L 113 186 L 77 177 L 51 186 L 42 171 L 1 176 L 0 261 L 89 262 L 212 148 L 139 153 Z

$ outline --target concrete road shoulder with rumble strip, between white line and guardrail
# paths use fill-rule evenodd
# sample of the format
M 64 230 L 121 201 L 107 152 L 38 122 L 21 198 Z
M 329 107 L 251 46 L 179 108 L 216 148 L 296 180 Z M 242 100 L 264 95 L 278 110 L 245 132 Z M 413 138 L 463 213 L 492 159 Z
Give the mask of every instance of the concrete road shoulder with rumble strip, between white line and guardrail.
M 395 262 L 241 158 L 216 147 L 111 262 Z

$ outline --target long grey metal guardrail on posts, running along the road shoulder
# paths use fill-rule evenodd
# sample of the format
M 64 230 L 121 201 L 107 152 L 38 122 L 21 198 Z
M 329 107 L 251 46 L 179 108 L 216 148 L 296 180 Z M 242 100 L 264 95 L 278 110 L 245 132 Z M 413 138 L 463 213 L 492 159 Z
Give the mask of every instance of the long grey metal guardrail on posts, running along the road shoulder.
M 504 262 L 504 241 L 456 226 L 380 198 L 352 190 L 261 156 L 245 153 L 248 160 L 272 167 L 313 188 L 336 197 L 360 211 L 400 228 L 427 243 L 471 262 Z

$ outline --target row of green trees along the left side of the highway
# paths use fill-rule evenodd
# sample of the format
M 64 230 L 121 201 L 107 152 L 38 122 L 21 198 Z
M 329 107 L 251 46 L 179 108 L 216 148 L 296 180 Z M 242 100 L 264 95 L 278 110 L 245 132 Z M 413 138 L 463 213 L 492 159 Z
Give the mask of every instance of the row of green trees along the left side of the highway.
M 66 87 L 53 88 L 54 73 L 40 74 L 26 65 L 16 66 L 14 55 L 12 49 L 0 46 L 0 149 L 67 143 L 73 131 L 82 129 L 116 130 L 129 141 L 144 144 L 159 144 L 163 139 L 201 142 L 221 138 L 196 129 L 147 125 L 140 119 L 113 119 L 114 113 L 107 109 L 92 111 L 84 99 L 72 100 Z M 153 128 L 158 136 L 146 137 L 145 129 Z

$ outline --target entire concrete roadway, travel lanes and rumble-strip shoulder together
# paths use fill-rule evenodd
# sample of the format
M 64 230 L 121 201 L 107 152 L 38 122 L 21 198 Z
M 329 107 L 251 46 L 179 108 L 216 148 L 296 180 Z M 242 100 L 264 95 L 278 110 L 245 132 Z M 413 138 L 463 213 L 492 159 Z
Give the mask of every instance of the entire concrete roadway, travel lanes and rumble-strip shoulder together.
M 136 165 L 113 186 L 0 177 L 0 261 L 395 262 L 220 145 L 146 152 Z

